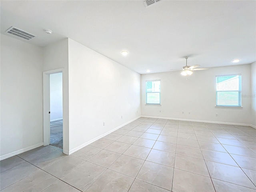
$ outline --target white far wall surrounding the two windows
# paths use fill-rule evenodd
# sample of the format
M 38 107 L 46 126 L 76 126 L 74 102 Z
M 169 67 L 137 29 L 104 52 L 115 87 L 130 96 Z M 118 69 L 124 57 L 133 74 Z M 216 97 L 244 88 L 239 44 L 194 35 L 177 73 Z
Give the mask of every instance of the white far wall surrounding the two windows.
M 216 75 L 222 74 L 242 74 L 242 94 L 250 95 L 249 64 L 196 71 L 188 80 L 180 73 L 170 74 L 170 72 L 166 72 L 142 75 L 142 116 L 250 124 L 250 98 L 242 98 L 243 108 L 215 107 Z M 146 106 L 145 81 L 155 79 L 161 80 L 161 106 Z

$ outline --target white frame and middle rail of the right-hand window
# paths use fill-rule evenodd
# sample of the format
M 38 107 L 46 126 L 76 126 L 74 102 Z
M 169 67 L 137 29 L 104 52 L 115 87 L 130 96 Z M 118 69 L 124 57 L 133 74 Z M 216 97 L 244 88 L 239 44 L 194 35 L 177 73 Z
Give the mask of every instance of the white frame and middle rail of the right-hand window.
M 217 84 L 218 84 L 218 77 L 225 77 L 225 76 L 240 76 L 238 82 L 238 90 L 224 90 L 218 91 Z M 218 105 L 218 92 L 238 92 L 238 105 Z M 225 75 L 216 75 L 216 107 L 238 107 L 242 108 L 242 74 L 225 74 Z

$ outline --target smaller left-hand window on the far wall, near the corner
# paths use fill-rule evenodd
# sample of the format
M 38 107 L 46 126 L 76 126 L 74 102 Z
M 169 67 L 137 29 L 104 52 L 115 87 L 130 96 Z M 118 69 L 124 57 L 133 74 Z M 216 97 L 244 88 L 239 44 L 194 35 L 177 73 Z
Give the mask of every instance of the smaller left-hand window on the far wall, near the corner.
M 146 81 L 146 104 L 160 105 L 160 80 Z

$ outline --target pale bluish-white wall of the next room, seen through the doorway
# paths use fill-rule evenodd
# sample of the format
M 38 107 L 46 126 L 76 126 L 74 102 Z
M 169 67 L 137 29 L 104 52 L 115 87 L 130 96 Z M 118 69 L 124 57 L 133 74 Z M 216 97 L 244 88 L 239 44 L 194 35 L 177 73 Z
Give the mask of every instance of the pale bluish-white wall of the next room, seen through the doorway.
M 50 120 L 62 119 L 62 110 L 62 73 L 50 74 Z

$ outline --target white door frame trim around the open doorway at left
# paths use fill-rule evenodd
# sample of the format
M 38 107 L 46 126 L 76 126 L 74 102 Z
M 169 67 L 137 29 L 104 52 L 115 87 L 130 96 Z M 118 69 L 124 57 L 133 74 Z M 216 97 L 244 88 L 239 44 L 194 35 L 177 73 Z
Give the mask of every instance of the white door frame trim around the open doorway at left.
M 63 71 L 64 68 L 48 70 L 43 72 L 43 142 L 44 146 L 50 144 L 50 74 L 62 73 L 62 101 L 63 101 Z M 62 102 L 63 112 L 63 102 Z M 64 116 L 63 122 L 64 122 Z M 63 129 L 63 128 L 62 128 Z M 64 132 L 64 129 L 63 129 Z M 63 137 L 63 133 L 62 133 Z M 64 144 L 64 137 L 63 137 Z

